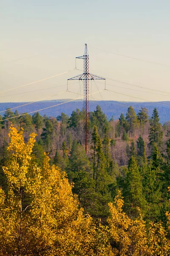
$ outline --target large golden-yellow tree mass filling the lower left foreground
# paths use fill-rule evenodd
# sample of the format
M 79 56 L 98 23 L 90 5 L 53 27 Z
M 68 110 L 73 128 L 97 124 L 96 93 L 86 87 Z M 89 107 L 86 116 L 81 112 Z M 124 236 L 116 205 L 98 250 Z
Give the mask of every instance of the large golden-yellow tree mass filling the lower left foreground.
M 42 169 L 31 155 L 36 134 L 24 142 L 23 132 L 11 127 L 11 152 L 3 167 L 7 195 L 0 189 L 0 256 L 113 256 L 104 227 L 94 225 L 79 209 L 64 172 Z

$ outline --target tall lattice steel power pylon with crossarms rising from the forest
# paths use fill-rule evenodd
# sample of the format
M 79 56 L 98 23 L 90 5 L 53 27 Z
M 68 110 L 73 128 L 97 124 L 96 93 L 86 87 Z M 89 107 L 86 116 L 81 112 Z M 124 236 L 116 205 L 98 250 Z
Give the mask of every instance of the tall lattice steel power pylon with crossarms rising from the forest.
M 95 76 L 89 73 L 89 55 L 88 47 L 85 44 L 83 56 L 76 58 L 84 59 L 84 73 L 74 76 L 68 80 L 84 80 L 84 132 L 85 132 L 85 152 L 88 151 L 88 128 L 89 128 L 89 80 L 105 80 L 105 78 Z

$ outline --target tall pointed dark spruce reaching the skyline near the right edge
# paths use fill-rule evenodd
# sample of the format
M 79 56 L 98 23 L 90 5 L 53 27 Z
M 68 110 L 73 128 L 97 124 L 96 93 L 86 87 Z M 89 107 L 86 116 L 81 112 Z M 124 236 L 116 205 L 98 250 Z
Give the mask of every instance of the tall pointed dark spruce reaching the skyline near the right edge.
M 161 124 L 159 122 L 159 115 L 156 108 L 153 110 L 153 115 L 150 118 L 150 130 L 149 130 L 149 146 L 156 143 L 159 147 L 161 146 L 163 139 L 163 132 L 161 130 Z

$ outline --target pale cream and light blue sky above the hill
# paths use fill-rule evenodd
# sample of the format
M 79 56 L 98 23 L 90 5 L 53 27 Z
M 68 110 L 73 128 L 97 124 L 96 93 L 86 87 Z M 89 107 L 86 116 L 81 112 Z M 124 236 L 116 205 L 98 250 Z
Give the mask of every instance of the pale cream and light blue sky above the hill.
M 170 101 L 169 10 L 169 0 L 0 0 L 0 102 L 82 99 L 82 82 L 65 91 L 84 44 L 90 73 L 107 78 L 107 90 L 90 81 L 90 99 Z

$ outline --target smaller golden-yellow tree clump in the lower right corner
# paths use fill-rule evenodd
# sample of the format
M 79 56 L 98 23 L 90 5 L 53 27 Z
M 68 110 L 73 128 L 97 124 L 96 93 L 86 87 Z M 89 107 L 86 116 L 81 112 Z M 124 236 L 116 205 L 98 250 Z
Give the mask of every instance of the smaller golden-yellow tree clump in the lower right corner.
M 160 223 L 151 224 L 149 235 L 142 215 L 131 220 L 123 211 L 123 200 L 120 192 L 115 198 L 115 205 L 109 204 L 111 217 L 108 218 L 113 252 L 116 256 L 168 256 L 170 243 Z

